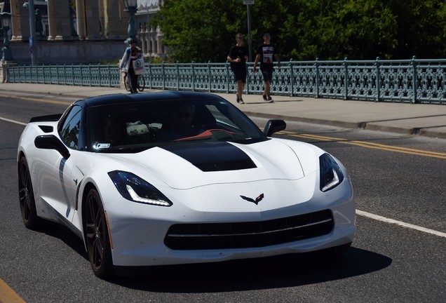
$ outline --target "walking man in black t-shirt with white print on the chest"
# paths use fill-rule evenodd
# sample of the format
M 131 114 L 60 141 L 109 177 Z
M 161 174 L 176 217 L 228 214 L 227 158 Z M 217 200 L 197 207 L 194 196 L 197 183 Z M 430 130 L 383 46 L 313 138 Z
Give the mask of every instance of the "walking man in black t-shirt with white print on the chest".
M 257 48 L 257 55 L 255 56 L 254 67 L 252 72 L 257 72 L 257 63 L 260 62 L 260 71 L 262 71 L 264 79 L 263 100 L 266 102 L 273 102 L 269 90 L 271 79 L 273 79 L 273 60 L 278 62 L 278 68 L 281 68 L 281 59 L 278 56 L 278 50 L 274 44 L 271 44 L 271 35 L 266 32 L 263 35 L 263 44 Z

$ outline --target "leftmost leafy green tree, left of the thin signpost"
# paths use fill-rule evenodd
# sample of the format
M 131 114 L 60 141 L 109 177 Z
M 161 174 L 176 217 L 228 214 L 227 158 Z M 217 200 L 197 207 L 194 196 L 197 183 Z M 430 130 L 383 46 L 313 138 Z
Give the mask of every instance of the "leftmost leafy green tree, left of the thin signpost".
M 224 62 L 237 32 L 245 32 L 243 5 L 226 0 L 165 0 L 155 20 L 163 43 L 180 62 Z

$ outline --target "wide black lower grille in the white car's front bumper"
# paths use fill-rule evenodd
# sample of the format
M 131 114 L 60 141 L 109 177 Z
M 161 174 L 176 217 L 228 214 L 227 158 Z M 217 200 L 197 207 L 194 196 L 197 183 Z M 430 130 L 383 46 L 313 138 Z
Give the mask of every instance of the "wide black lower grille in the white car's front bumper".
M 173 250 L 262 247 L 330 234 L 333 226 L 330 210 L 257 222 L 174 224 L 164 243 Z

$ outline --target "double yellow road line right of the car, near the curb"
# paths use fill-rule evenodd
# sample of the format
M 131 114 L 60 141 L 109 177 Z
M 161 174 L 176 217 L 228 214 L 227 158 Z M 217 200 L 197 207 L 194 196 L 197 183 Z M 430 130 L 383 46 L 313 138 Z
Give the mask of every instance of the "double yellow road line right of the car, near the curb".
M 281 132 L 285 135 L 290 135 L 292 137 L 302 137 L 305 139 L 313 139 L 313 140 L 322 140 L 322 141 L 337 141 L 342 144 L 349 144 L 349 145 L 355 145 L 358 147 L 365 147 L 370 149 L 379 149 L 384 150 L 387 152 L 399 152 L 402 154 L 413 154 L 417 156 L 428 156 L 431 158 L 438 158 L 438 159 L 446 159 L 446 153 L 442 152 L 429 152 L 422 149 L 412 149 L 408 147 L 396 147 L 392 145 L 386 145 L 386 144 L 379 144 L 375 142 L 366 142 L 366 141 L 359 141 L 359 140 L 353 140 L 349 141 L 344 138 L 339 137 L 326 137 L 321 135 L 311 135 L 311 134 L 297 134 L 292 132 Z

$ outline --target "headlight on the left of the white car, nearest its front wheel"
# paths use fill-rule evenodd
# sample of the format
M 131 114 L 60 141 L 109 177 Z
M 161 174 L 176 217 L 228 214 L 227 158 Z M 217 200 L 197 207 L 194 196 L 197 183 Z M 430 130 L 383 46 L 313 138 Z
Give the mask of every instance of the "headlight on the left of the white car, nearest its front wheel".
M 171 206 L 172 202 L 149 182 L 133 173 L 114 170 L 109 173 L 114 186 L 126 199 L 156 206 Z

